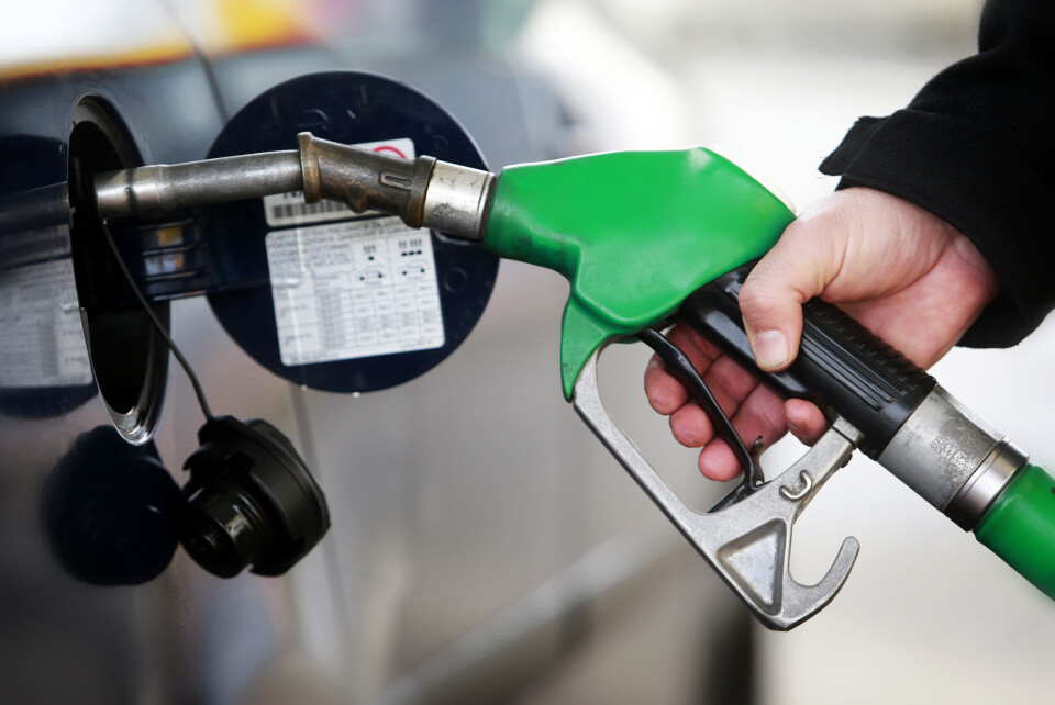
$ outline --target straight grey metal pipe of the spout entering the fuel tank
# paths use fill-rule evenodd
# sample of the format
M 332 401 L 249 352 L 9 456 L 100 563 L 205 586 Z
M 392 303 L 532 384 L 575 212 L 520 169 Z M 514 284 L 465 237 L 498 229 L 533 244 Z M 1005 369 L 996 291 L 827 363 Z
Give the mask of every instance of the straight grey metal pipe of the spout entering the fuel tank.
M 303 183 L 297 149 L 107 171 L 95 179 L 102 217 L 260 198 L 299 191 Z

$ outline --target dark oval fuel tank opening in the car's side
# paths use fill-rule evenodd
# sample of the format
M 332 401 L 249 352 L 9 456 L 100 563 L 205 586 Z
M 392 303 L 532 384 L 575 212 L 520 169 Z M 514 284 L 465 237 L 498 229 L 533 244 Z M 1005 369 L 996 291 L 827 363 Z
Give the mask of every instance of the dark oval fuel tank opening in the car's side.
M 133 444 L 146 443 L 157 425 L 168 348 L 122 277 L 107 245 L 92 194 L 100 171 L 141 166 L 133 141 L 102 99 L 88 97 L 74 110 L 69 134 L 70 246 L 77 299 L 96 383 L 114 428 Z M 134 233 L 134 221 L 114 222 L 118 240 Z M 133 268 L 134 262 L 129 262 Z M 168 327 L 168 303 L 152 304 Z

